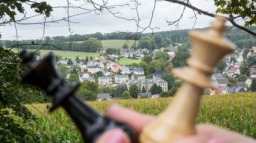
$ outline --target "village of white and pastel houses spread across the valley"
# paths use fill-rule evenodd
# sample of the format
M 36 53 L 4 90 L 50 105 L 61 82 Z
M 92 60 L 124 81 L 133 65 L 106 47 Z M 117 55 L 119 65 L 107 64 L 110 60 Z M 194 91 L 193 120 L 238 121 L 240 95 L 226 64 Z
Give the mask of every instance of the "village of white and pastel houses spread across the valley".
M 91 81 L 96 82 L 99 87 L 109 86 L 109 87 L 117 87 L 118 85 L 125 85 L 129 90 L 130 85 L 137 85 L 141 91 L 139 93 L 138 98 L 145 97 L 147 98 L 159 98 L 161 93 L 151 94 L 149 92 L 150 87 L 153 84 L 160 86 L 162 88 L 161 92 L 168 91 L 168 82 L 161 78 L 161 76 L 166 73 L 165 70 L 156 70 L 152 74 L 152 78 L 146 78 L 144 74 L 144 69 L 139 67 L 129 67 L 128 65 L 121 65 L 118 60 L 120 58 L 133 58 L 141 60 L 144 58 L 144 54 L 152 56 L 154 59 L 156 53 L 165 52 L 166 48 L 161 47 L 160 49 L 154 49 L 151 53 L 149 50 L 137 49 L 136 51 L 132 48 L 130 49 L 122 49 L 120 55 L 112 54 L 107 55 L 105 52 L 106 48 L 100 48 L 98 51 L 101 56 L 91 57 L 87 60 L 87 62 L 82 62 L 83 60 L 75 60 L 72 61 L 72 65 L 68 64 L 68 59 L 59 59 L 57 61 L 57 65 L 65 65 L 68 70 L 67 79 L 69 79 L 70 71 L 72 68 L 79 69 L 79 81 L 82 83 L 83 81 Z M 246 55 L 246 58 L 243 57 L 245 48 L 236 49 L 236 51 L 232 54 L 226 55 L 223 60 L 225 61 L 225 68 L 223 71 L 215 69 L 216 72 L 212 74 L 211 80 L 212 82 L 218 86 L 217 90 L 213 90 L 211 88 L 205 89 L 205 94 L 215 95 L 215 94 L 229 94 L 232 92 L 246 92 L 248 87 L 252 84 L 252 78 L 256 77 L 256 66 L 252 66 L 250 70 L 250 75 L 246 79 L 237 80 L 235 77 L 241 74 L 241 66 L 245 62 L 246 58 L 253 57 L 256 55 L 256 47 L 252 47 L 252 50 L 249 51 Z M 178 46 L 169 47 L 167 52 L 168 61 L 170 64 L 172 59 L 175 57 L 176 52 L 178 51 Z M 189 52 L 193 52 L 193 49 L 188 49 Z M 42 59 L 43 57 L 38 56 L 37 60 Z M 102 73 L 101 76 L 98 76 L 95 79 L 95 73 Z M 244 76 L 244 75 L 242 75 Z M 178 77 L 174 75 L 178 80 Z M 146 85 L 147 84 L 147 85 Z M 145 89 L 143 92 L 143 88 Z M 145 92 L 146 91 L 146 92 Z M 102 100 L 111 100 L 111 99 L 121 99 L 111 97 L 109 93 L 97 94 L 97 99 Z

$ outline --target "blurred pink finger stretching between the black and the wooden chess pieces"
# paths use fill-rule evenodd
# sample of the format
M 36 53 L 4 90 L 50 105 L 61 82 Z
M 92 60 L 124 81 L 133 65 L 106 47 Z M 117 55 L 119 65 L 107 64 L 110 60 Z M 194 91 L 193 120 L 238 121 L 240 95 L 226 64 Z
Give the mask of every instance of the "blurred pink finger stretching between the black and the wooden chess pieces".
M 148 115 L 141 115 L 135 111 L 122 108 L 118 105 L 109 106 L 106 116 L 115 119 L 116 121 L 128 123 L 136 133 L 140 133 L 143 127 L 151 123 L 155 117 Z

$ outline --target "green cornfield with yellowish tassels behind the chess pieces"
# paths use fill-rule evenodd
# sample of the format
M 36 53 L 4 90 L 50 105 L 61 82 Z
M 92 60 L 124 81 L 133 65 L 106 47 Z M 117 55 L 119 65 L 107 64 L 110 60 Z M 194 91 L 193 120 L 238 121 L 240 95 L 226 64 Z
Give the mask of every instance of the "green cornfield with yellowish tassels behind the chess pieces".
M 92 108 L 105 114 L 111 104 L 119 104 L 141 114 L 158 116 L 171 103 L 170 98 L 130 99 L 86 102 Z M 256 94 L 235 93 L 229 95 L 205 95 L 202 97 L 197 123 L 214 124 L 247 136 L 256 136 Z M 40 112 L 38 112 L 33 106 Z M 27 104 L 27 108 L 38 117 L 32 131 L 44 131 L 47 137 L 57 142 L 82 142 L 78 129 L 64 109 L 53 113 L 46 109 L 47 104 Z M 44 117 L 44 116 L 45 117 Z M 20 123 L 22 124 L 22 123 Z

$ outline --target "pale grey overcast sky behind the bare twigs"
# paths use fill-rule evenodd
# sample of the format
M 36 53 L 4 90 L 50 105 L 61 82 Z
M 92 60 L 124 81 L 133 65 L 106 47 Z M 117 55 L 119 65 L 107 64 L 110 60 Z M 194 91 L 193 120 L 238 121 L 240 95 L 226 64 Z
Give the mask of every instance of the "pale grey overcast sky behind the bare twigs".
M 67 6 L 66 0 L 45 0 L 48 4 L 50 4 L 53 7 L 57 6 Z M 109 0 L 108 5 L 121 5 L 125 4 L 128 1 L 128 4 L 123 7 L 121 6 L 115 6 L 115 8 L 110 9 L 112 13 L 120 12 L 120 14 L 116 14 L 116 16 L 120 16 L 127 19 L 137 18 L 137 13 L 135 10 L 132 10 L 135 8 L 135 4 L 130 2 L 130 0 Z M 37 2 L 39 2 L 37 0 Z M 95 0 L 97 3 L 101 3 L 101 0 Z M 139 25 L 141 27 L 147 27 L 150 23 L 150 19 L 152 16 L 152 10 L 154 8 L 154 0 L 139 0 L 140 4 L 138 6 L 138 13 L 140 17 Z M 197 8 L 201 10 L 208 11 L 210 13 L 213 13 L 214 10 L 216 10 L 216 6 L 214 6 L 214 2 L 212 0 L 206 1 L 206 0 L 193 0 L 191 1 L 193 6 L 196 6 Z M 71 3 L 74 6 L 82 5 L 82 8 L 85 9 L 93 9 L 93 6 L 91 4 L 88 4 L 84 2 L 83 0 L 80 1 L 74 1 L 71 0 Z M 35 15 L 33 10 L 30 9 L 29 5 L 24 5 L 26 10 L 26 17 L 30 17 Z M 176 27 L 174 25 L 168 26 L 166 23 L 166 19 L 168 21 L 175 21 L 177 20 L 183 11 L 183 6 L 179 4 L 174 4 L 166 1 L 158 1 L 155 5 L 155 10 L 153 13 L 153 18 L 151 22 L 151 28 L 159 27 L 159 29 L 154 29 L 154 32 L 156 31 L 167 31 L 167 30 L 175 30 Z M 69 16 L 89 12 L 83 9 L 72 9 L 69 8 Z M 179 22 L 179 29 L 191 29 L 194 25 L 195 19 L 189 18 L 193 17 L 193 11 L 189 8 L 186 8 L 183 18 Z M 17 15 L 16 19 L 22 18 L 22 15 Z M 68 17 L 67 10 L 64 8 L 55 8 L 53 12 L 51 12 L 51 16 L 46 19 L 46 22 L 50 22 L 51 20 L 58 20 L 62 18 Z M 214 20 L 214 18 L 211 18 L 209 16 L 205 15 L 197 15 L 197 22 L 195 25 L 195 28 L 203 28 L 206 26 L 210 26 L 210 22 Z M 91 11 L 90 13 L 73 16 L 70 17 L 70 21 L 74 23 L 70 23 L 71 32 L 68 30 L 68 22 L 67 21 L 60 21 L 58 23 L 47 23 L 47 26 L 45 27 L 45 35 L 44 36 L 68 36 L 70 34 L 90 34 L 95 32 L 101 32 L 101 33 L 110 33 L 115 31 L 136 31 L 136 23 L 133 20 L 126 20 L 114 17 L 113 14 L 111 14 L 108 10 L 104 10 L 103 13 L 94 12 Z M 18 40 L 24 40 L 24 39 L 39 39 L 43 36 L 43 25 L 40 24 L 32 24 L 27 25 L 28 23 L 42 23 L 44 22 L 44 17 L 42 15 L 36 16 L 33 18 L 29 18 L 27 20 L 24 20 L 22 22 L 19 22 L 20 24 L 16 24 L 17 31 L 18 31 Z M 79 23 L 77 23 L 79 22 Z M 231 25 L 229 23 L 226 23 L 227 25 Z M 140 29 L 142 30 L 142 29 Z M 16 37 L 16 31 L 14 24 L 12 25 L 6 25 L 6 26 L 0 26 L 0 32 L 2 34 L 2 40 L 15 40 Z M 151 29 L 146 29 L 145 32 L 152 32 Z

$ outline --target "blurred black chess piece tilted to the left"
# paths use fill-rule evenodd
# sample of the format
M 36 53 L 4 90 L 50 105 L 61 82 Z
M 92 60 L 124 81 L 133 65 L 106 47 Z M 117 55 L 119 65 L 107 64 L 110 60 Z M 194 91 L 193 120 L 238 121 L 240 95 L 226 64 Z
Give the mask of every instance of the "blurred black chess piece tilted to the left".
M 130 139 L 133 139 L 135 132 L 128 124 L 102 116 L 75 96 L 79 84 L 64 84 L 64 80 L 54 67 L 53 54 L 39 61 L 33 60 L 33 54 L 26 51 L 23 51 L 20 57 L 22 62 L 29 66 L 22 83 L 37 86 L 53 96 L 53 106 L 50 111 L 62 106 L 80 129 L 84 142 L 93 143 L 101 134 L 113 128 L 124 130 Z

